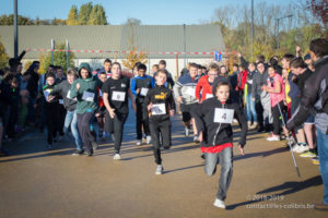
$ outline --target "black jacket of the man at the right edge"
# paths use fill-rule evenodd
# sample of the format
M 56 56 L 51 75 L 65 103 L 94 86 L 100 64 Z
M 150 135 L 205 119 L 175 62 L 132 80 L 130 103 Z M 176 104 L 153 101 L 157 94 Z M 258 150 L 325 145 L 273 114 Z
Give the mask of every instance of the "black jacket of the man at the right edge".
M 314 108 L 316 128 L 328 134 L 328 56 L 315 62 L 315 72 L 305 82 L 297 110 L 286 124 L 289 130 L 302 124 Z

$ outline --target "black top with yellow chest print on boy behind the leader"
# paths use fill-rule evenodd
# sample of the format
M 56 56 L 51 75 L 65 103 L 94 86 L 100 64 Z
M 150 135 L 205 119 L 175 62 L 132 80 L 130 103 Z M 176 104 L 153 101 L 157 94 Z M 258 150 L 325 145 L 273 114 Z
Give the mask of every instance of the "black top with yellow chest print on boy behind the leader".
M 175 110 L 175 101 L 173 97 L 173 92 L 165 87 L 155 85 L 152 87 L 145 98 L 144 105 L 149 104 L 165 104 L 166 113 L 160 116 L 150 116 L 150 122 L 161 122 L 169 119 L 169 110 Z M 151 113 L 150 113 L 151 114 Z

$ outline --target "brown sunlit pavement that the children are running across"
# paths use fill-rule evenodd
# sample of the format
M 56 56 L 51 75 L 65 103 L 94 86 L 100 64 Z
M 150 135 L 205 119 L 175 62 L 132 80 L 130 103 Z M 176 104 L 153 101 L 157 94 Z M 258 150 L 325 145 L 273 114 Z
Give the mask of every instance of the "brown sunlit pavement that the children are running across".
M 207 177 L 198 146 L 183 135 L 179 116 L 173 126 L 173 147 L 163 154 L 162 175 L 155 175 L 151 146 L 134 145 L 133 114 L 125 128 L 120 161 L 113 160 L 109 140 L 89 158 L 71 156 L 74 146 L 68 138 L 47 150 L 45 134 L 23 136 L 9 147 L 14 155 L 0 158 L 0 218 L 328 217 L 294 208 L 323 199 L 318 166 L 297 156 L 298 179 L 283 143 L 268 143 L 266 134 L 254 132 L 248 135 L 246 156 L 234 148 L 227 209 L 213 207 L 220 168 Z

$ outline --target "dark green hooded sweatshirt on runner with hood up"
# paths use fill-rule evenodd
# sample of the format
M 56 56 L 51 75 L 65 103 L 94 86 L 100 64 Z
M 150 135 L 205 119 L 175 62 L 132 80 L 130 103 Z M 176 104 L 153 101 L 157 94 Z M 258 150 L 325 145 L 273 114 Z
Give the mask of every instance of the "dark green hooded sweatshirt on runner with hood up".
M 82 78 L 81 69 L 86 69 L 89 71 L 87 78 Z M 81 63 L 79 68 L 79 78 L 75 80 L 71 86 L 70 98 L 77 97 L 77 112 L 92 112 L 97 109 L 97 86 L 98 81 L 92 76 L 91 68 L 87 63 Z M 77 84 L 80 84 L 79 90 L 77 89 Z

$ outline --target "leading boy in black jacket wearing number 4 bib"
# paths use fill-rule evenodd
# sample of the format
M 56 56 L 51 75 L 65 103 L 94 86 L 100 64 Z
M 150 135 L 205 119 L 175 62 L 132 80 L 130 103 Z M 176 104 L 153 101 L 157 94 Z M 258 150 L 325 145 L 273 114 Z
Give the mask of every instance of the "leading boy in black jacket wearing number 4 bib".
M 236 104 L 229 104 L 230 84 L 219 82 L 213 87 L 215 97 L 204 100 L 195 111 L 201 152 L 204 153 L 204 171 L 208 175 L 215 173 L 216 165 L 221 165 L 219 191 L 215 207 L 225 208 L 224 201 L 233 174 L 233 131 L 231 123 L 237 119 L 242 126 L 239 149 L 244 155 L 247 122 L 243 109 Z

